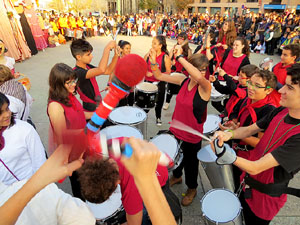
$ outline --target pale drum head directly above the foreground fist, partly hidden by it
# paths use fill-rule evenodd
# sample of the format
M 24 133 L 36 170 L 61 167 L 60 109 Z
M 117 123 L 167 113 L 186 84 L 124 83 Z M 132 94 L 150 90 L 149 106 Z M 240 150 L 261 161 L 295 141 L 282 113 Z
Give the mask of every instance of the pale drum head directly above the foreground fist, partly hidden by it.
M 100 130 L 100 135 L 105 135 L 107 139 L 118 138 L 118 137 L 136 137 L 144 139 L 143 134 L 135 127 L 127 125 L 115 125 L 109 126 Z

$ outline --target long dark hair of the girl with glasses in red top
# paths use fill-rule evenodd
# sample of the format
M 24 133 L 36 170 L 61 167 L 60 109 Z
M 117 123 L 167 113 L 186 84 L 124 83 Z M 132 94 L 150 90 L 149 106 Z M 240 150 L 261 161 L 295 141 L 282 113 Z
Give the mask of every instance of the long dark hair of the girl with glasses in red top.
M 66 106 L 71 106 L 69 103 L 69 92 L 65 88 L 65 83 L 76 78 L 75 71 L 68 65 L 64 63 L 55 64 L 49 75 L 48 101 L 57 101 Z

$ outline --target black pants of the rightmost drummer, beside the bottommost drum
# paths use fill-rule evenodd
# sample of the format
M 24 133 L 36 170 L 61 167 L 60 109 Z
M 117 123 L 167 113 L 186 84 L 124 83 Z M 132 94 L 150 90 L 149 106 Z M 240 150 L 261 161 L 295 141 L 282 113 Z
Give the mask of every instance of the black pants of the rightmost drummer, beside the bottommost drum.
M 241 193 L 239 197 L 242 207 L 243 207 L 243 214 L 244 214 L 244 219 L 245 219 L 245 224 L 246 225 L 268 225 L 270 224 L 270 220 L 263 220 L 259 217 L 257 217 L 252 210 L 250 209 L 248 203 L 245 200 L 244 197 L 244 192 Z

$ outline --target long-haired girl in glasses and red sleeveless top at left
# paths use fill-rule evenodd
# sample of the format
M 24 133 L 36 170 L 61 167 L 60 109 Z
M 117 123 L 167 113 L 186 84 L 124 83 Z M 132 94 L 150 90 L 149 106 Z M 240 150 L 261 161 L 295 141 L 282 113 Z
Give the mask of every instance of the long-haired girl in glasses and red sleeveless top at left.
M 93 112 L 84 112 L 76 99 L 77 77 L 74 70 L 64 63 L 57 63 L 49 75 L 47 113 L 50 120 L 49 151 L 62 144 L 66 134 L 79 134 Z M 51 147 L 52 145 L 52 147 Z M 54 145 L 54 146 L 53 146 Z M 82 198 L 77 173 L 70 177 L 74 197 Z

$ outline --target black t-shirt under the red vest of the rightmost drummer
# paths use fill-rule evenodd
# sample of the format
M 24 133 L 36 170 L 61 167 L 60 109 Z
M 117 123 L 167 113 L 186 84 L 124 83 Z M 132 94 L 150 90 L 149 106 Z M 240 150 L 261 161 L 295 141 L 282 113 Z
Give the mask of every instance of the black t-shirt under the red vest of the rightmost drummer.
M 257 121 L 257 126 L 263 130 L 266 130 L 272 119 L 283 109 L 284 107 L 274 109 L 261 120 Z M 284 122 L 296 125 L 300 123 L 300 119 L 295 119 L 287 115 L 287 117 L 284 118 Z M 283 145 L 271 152 L 272 156 L 279 163 L 279 166 L 274 168 L 274 181 L 276 183 L 288 182 L 300 170 L 299 146 L 300 133 L 291 136 Z

